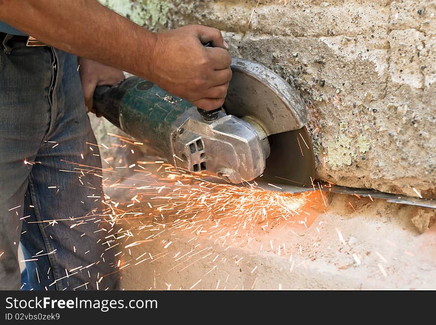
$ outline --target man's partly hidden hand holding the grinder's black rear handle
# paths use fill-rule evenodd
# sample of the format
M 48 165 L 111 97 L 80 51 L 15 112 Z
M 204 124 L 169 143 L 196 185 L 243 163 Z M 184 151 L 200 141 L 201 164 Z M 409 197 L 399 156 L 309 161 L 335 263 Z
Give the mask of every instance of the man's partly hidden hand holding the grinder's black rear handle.
M 80 80 L 82 81 L 86 108 L 89 112 L 93 113 L 96 113 L 92 102 L 96 87 L 113 86 L 125 78 L 124 73 L 121 70 L 108 67 L 83 57 L 79 58 L 79 74 Z

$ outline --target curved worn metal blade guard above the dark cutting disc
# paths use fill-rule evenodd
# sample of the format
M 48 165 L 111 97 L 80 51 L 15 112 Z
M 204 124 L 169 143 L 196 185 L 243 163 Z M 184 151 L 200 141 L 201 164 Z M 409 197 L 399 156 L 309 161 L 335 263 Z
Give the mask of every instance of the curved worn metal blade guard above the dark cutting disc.
M 237 117 L 251 117 L 268 136 L 301 129 L 309 122 L 309 111 L 300 95 L 267 67 L 234 58 L 224 109 Z

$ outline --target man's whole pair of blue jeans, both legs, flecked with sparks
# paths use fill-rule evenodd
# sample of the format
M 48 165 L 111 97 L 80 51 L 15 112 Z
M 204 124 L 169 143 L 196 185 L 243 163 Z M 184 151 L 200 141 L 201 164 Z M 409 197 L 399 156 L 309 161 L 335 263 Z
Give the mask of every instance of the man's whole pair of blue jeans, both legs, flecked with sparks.
M 0 51 L 0 289 L 117 289 L 77 57 L 8 45 L 10 54 Z

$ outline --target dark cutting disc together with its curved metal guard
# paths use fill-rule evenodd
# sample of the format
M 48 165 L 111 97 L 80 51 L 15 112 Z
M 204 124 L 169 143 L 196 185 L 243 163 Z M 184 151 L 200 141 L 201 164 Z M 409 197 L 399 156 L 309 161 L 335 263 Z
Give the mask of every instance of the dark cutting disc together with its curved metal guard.
M 225 99 L 227 114 L 251 117 L 266 134 L 271 154 L 259 182 L 277 186 L 311 186 L 315 174 L 312 142 L 305 125 L 309 110 L 300 94 L 271 69 L 234 58 Z

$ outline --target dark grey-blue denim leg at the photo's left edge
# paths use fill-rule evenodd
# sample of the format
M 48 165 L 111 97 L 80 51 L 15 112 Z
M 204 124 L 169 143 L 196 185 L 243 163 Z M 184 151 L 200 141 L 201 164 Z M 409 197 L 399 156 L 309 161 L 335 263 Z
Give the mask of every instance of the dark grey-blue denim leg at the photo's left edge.
M 18 244 L 28 176 L 49 129 L 51 57 L 46 48 L 0 51 L 0 289 L 18 289 Z M 35 78 L 35 76 L 38 76 Z M 26 162 L 26 163 L 25 163 Z

